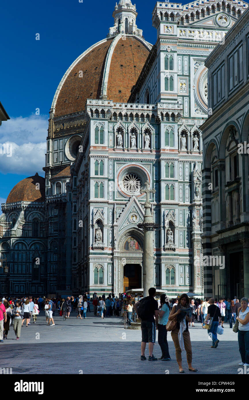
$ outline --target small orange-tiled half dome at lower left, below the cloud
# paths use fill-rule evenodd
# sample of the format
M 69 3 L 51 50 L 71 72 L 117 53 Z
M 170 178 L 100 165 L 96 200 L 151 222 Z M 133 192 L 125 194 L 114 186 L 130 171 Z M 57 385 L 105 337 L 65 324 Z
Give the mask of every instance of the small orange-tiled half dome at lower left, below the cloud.
M 36 189 L 36 183 L 40 184 L 40 189 Z M 36 172 L 34 176 L 29 176 L 18 182 L 8 195 L 6 203 L 18 201 L 45 201 L 45 178 L 42 178 Z

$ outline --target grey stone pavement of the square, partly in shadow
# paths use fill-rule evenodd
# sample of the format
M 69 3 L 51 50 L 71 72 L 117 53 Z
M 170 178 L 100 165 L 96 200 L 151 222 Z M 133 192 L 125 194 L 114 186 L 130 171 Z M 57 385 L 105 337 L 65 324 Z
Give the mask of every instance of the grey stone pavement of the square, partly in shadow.
M 91 374 L 102 368 L 105 374 L 179 374 L 175 358 L 175 347 L 168 334 L 171 361 L 149 362 L 140 360 L 141 331 L 125 330 L 120 318 L 110 317 L 101 320 L 93 312 L 87 318 L 76 319 L 76 312 L 70 319 L 54 317 L 56 326 L 46 326 L 44 312 L 40 312 L 37 323 L 21 329 L 20 340 L 13 326 L 10 326 L 8 339 L 0 343 L 0 368 L 12 368 L 12 374 Z M 219 336 L 219 346 L 211 348 L 207 330 L 200 323 L 190 328 L 193 349 L 193 366 L 196 374 L 238 374 L 241 362 L 237 334 L 224 324 L 224 334 Z M 149 352 L 146 349 L 145 355 Z M 157 343 L 154 355 L 161 356 Z M 186 352 L 183 352 L 185 373 L 187 369 Z

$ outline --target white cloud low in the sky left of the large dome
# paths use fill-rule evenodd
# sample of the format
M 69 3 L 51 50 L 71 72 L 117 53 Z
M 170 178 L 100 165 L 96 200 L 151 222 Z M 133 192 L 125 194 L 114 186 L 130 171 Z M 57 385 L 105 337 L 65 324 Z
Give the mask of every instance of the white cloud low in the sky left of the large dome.
M 47 129 L 48 116 L 31 115 L 2 122 L 0 143 L 10 143 L 12 148 L 8 151 L 7 146 L 7 154 L 1 154 L 4 147 L 0 146 L 0 172 L 26 176 L 38 172 L 44 176 Z

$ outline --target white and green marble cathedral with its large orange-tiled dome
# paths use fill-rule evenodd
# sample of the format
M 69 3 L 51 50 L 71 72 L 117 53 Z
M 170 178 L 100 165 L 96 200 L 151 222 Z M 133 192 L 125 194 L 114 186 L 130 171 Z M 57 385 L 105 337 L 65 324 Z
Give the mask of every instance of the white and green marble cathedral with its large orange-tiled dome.
M 44 266 L 48 292 L 142 288 L 138 224 L 145 202 L 140 190 L 148 182 L 156 190 L 151 202 L 159 226 L 155 286 L 169 296 L 203 296 L 201 125 L 209 113 L 204 62 L 246 8 L 237 0 L 157 2 L 152 46 L 137 27 L 135 5 L 120 0 L 106 38 L 68 68 L 50 110 L 44 210 L 40 220 L 34 216 L 39 223 L 44 218 L 48 256 L 39 273 Z M 25 196 L 15 199 L 12 212 L 26 210 Z M 28 214 L 16 216 L 10 235 L 8 204 L 2 205 L 1 246 L 12 251 L 15 242 L 26 244 L 20 226 Z M 43 243 L 32 233 L 31 239 Z M 29 285 L 35 255 L 27 260 Z

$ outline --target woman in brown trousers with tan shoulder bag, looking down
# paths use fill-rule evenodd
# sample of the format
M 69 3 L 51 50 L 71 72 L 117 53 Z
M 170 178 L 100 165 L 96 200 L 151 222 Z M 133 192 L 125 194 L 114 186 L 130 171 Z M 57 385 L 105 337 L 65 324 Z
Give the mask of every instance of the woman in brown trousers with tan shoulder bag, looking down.
M 179 298 L 177 306 L 173 306 L 171 313 L 169 314 L 169 320 L 177 320 L 176 328 L 171 331 L 171 337 L 175 345 L 175 355 L 179 365 L 179 372 L 181 373 L 184 372 L 181 356 L 181 352 L 184 349 L 187 353 L 189 371 L 197 372 L 197 369 L 192 367 L 192 346 L 188 328 L 188 322 L 191 321 L 189 312 L 191 313 L 191 309 L 189 307 L 189 297 L 187 294 L 183 293 Z

